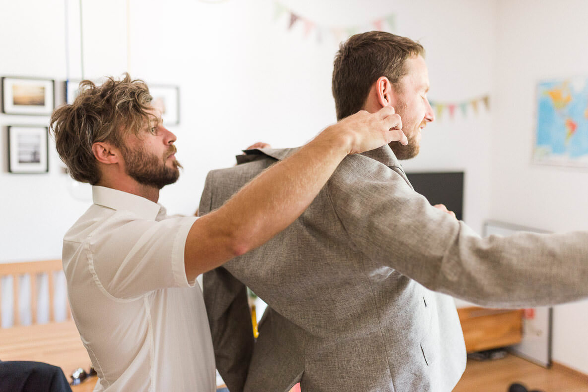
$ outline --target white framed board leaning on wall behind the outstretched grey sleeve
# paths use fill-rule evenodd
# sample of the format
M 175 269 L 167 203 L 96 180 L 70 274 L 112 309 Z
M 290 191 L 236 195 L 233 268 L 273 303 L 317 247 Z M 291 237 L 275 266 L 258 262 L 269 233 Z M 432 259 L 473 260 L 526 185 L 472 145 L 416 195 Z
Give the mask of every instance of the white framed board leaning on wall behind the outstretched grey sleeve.
M 543 230 L 513 225 L 505 222 L 488 221 L 484 225 L 485 236 L 509 236 L 519 231 L 547 233 Z M 552 363 L 552 307 L 533 307 L 523 312 L 523 340 L 511 347 L 514 354 L 543 367 Z

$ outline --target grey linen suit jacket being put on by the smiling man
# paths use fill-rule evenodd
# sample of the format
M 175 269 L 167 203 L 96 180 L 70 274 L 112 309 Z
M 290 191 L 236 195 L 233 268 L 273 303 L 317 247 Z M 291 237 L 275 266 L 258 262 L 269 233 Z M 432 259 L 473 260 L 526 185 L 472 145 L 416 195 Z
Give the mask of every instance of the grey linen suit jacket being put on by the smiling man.
M 292 150 L 206 178 L 220 207 Z M 388 146 L 346 157 L 267 244 L 204 276 L 231 392 L 451 391 L 466 365 L 453 299 L 535 306 L 588 295 L 588 234 L 480 238 L 413 191 Z M 245 285 L 269 307 L 254 342 Z

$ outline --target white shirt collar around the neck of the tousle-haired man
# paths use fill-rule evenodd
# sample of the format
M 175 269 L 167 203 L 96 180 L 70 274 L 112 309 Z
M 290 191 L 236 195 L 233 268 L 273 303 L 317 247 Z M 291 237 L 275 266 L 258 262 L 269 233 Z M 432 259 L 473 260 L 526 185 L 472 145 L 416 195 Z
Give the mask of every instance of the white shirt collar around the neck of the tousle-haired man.
M 92 185 L 92 198 L 94 204 L 131 211 L 139 217 L 149 220 L 155 220 L 159 209 L 162 208 L 161 205 L 144 197 L 98 185 Z

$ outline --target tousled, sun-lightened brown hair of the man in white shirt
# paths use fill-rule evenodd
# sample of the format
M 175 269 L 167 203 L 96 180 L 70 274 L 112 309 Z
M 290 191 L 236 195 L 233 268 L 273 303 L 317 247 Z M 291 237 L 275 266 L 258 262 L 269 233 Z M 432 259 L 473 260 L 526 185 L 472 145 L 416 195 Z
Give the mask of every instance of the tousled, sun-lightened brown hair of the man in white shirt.
M 128 73 L 122 80 L 108 77 L 99 86 L 90 80 L 80 83 L 74 103 L 55 109 L 50 126 L 59 157 L 74 180 L 98 183 L 100 172 L 92 144 L 108 142 L 121 147 L 125 134 L 138 134 L 149 121 L 151 100 L 145 82 L 131 80 Z

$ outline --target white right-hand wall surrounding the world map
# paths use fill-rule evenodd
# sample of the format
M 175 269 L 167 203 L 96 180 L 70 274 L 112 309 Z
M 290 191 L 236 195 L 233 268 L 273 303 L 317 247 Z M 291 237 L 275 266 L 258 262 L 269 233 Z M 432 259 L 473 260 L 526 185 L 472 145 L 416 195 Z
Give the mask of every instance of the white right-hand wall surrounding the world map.
M 490 216 L 554 232 L 587 229 L 588 170 L 531 164 L 535 88 L 588 77 L 588 3 L 499 1 Z M 588 302 L 557 306 L 553 359 L 588 373 Z

